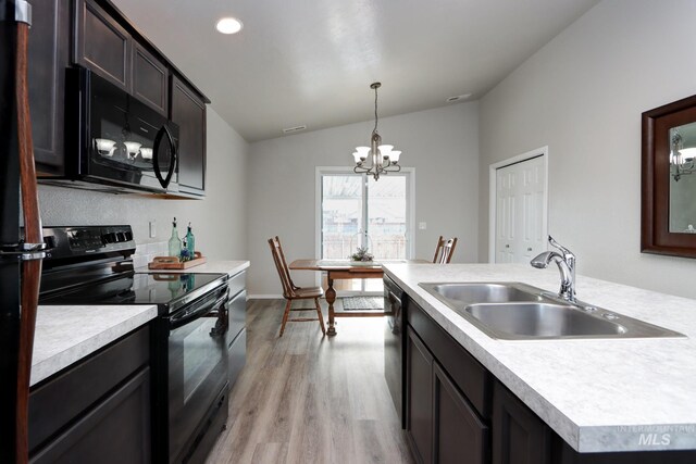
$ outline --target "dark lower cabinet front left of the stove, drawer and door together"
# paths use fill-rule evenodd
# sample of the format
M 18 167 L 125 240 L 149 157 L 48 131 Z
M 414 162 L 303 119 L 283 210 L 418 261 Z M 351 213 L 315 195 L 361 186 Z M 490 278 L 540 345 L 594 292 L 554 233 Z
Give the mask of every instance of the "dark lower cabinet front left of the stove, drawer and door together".
M 33 387 L 29 462 L 149 463 L 149 353 L 146 326 Z

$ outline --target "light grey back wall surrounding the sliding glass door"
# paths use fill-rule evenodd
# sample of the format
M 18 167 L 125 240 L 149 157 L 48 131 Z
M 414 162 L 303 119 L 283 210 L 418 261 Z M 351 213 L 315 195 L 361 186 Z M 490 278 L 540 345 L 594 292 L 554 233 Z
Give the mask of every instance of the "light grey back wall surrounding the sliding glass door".
M 374 122 L 252 143 L 249 156 L 248 249 L 250 294 L 282 293 L 268 239 L 281 237 L 286 258 L 315 254 L 315 166 L 351 166 L 355 147 L 368 145 Z M 415 256 L 432 260 L 439 235 L 457 236 L 452 262 L 476 262 L 478 104 L 459 103 L 380 120 L 385 143 L 415 168 Z M 295 272 L 297 285 L 313 285 Z

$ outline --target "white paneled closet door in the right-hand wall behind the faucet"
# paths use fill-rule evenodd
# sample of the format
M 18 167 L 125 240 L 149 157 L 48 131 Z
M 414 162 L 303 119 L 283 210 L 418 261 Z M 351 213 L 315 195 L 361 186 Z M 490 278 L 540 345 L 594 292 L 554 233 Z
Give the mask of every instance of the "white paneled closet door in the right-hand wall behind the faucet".
M 496 263 L 526 263 L 546 250 L 544 161 L 496 170 Z

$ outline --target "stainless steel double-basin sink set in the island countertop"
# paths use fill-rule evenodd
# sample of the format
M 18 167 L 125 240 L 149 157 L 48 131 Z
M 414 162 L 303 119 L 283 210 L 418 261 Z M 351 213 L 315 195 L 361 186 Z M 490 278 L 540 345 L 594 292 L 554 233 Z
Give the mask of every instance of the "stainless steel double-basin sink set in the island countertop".
M 498 339 L 684 337 L 580 301 L 571 303 L 520 283 L 420 286 L 483 333 Z

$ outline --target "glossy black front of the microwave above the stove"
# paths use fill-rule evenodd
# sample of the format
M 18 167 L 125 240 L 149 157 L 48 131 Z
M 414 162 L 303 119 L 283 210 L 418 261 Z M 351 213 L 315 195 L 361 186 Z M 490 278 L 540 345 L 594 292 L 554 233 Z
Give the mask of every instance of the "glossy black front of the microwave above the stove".
M 79 70 L 86 108 L 80 171 L 152 191 L 178 191 L 178 126 L 105 79 Z

